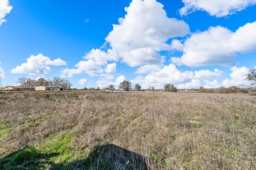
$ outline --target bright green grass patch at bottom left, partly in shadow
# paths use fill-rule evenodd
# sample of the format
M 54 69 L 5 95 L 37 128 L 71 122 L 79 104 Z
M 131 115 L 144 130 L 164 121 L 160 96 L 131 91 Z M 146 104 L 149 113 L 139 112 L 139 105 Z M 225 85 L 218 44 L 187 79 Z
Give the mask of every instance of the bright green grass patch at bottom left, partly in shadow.
M 70 169 L 90 152 L 88 148 L 73 146 L 72 138 L 71 133 L 50 135 L 36 147 L 27 146 L 0 159 L 0 169 Z

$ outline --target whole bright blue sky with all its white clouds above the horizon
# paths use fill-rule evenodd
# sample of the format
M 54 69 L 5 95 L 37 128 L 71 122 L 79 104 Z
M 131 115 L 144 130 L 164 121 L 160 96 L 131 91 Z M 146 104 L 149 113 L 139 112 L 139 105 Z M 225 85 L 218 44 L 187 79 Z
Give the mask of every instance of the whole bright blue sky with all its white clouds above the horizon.
M 0 77 L 59 76 L 73 88 L 246 84 L 256 0 L 0 0 Z

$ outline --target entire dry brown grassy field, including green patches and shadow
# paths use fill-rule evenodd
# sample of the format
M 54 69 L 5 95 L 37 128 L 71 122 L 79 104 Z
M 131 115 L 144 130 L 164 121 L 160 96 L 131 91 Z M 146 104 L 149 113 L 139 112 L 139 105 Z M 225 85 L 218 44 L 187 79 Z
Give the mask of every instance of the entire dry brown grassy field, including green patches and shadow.
M 0 169 L 256 169 L 256 96 L 2 92 Z

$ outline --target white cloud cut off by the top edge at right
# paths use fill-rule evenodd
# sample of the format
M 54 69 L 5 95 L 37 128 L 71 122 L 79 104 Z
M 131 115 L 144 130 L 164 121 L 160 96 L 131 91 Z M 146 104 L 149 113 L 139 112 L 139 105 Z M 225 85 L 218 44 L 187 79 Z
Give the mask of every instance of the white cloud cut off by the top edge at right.
M 210 16 L 225 17 L 256 4 L 256 0 L 182 0 L 184 7 L 180 15 L 186 16 L 198 10 L 204 10 Z

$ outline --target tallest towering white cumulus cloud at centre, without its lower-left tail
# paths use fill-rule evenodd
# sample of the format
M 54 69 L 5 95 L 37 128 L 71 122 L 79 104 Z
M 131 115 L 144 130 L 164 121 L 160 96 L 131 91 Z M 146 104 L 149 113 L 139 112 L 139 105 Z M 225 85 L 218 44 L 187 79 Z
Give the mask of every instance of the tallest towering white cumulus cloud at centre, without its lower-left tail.
M 127 14 L 113 25 L 106 42 L 129 66 L 161 64 L 158 51 L 171 48 L 166 41 L 189 33 L 188 24 L 168 18 L 156 0 L 132 0 L 125 11 Z

